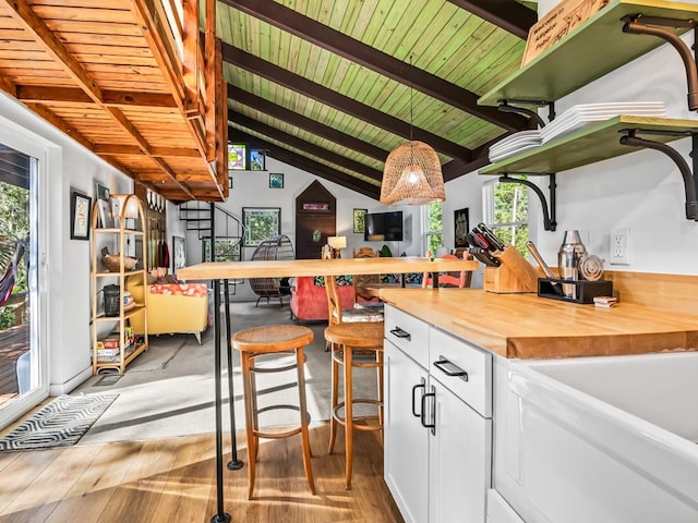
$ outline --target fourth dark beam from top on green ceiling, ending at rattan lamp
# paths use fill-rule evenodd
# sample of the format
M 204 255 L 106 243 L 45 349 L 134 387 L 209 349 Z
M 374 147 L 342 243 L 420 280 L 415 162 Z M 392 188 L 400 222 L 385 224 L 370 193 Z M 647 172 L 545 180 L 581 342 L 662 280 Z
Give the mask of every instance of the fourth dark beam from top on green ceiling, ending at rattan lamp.
M 359 139 L 350 134 L 337 131 L 336 129 L 325 125 L 317 120 L 313 120 L 299 114 L 298 112 L 291 111 L 290 109 L 286 109 L 273 101 L 268 101 L 260 96 L 243 90 L 240 87 L 236 87 L 232 84 L 228 84 L 228 98 L 373 159 L 385 161 L 388 156 L 389 151 L 382 149 L 381 147 L 376 147 L 375 145 L 369 144 L 368 142 Z

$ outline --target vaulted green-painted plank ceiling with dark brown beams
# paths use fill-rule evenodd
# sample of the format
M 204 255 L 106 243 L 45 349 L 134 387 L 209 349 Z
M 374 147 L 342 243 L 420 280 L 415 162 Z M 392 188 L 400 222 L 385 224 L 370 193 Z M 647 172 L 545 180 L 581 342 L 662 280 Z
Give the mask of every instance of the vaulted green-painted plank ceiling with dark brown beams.
M 450 180 L 527 126 L 476 100 L 519 69 L 531 2 L 219 0 L 216 17 L 229 139 L 376 199 L 410 136 Z

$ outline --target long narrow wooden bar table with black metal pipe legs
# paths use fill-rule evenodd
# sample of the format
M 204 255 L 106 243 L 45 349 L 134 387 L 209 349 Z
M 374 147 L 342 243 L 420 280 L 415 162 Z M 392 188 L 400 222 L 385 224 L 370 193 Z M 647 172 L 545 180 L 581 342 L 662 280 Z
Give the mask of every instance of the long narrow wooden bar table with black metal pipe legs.
M 342 276 L 342 275 L 433 275 L 433 289 L 438 290 L 438 273 L 461 270 L 477 270 L 478 262 L 468 259 L 447 259 L 418 256 L 377 257 L 377 258 L 335 258 L 335 259 L 278 259 L 249 262 L 204 262 L 178 269 L 177 278 L 183 281 L 208 280 L 213 284 L 214 296 L 214 372 L 215 372 L 215 416 L 216 416 L 216 514 L 212 523 L 230 522 L 225 511 L 224 500 L 224 450 L 222 450 L 222 380 L 221 380 L 221 332 L 226 327 L 228 361 L 228 394 L 230 411 L 230 433 L 232 453 L 228 462 L 229 470 L 243 466 L 238 459 L 234 425 L 234 394 L 232 388 L 232 345 L 230 332 L 229 280 L 244 278 L 290 278 L 300 276 Z M 404 285 L 402 278 L 402 285 Z M 221 318 L 220 294 L 224 293 L 224 318 Z

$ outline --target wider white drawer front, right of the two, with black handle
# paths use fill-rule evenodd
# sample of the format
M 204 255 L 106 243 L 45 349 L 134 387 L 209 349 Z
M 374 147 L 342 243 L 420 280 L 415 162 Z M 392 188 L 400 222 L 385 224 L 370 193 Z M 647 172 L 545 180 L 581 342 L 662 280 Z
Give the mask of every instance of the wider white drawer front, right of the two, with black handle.
M 429 337 L 430 374 L 481 416 L 492 417 L 492 354 L 433 327 Z

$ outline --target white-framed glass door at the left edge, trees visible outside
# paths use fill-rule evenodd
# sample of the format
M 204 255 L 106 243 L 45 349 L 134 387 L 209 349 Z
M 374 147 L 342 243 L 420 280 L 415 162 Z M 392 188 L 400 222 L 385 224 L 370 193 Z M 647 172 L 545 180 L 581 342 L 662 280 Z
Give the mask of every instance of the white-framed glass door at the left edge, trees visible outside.
M 48 244 L 46 170 L 48 149 L 31 133 L 0 119 L 0 427 L 48 396 L 46 295 L 40 260 Z M 9 210 L 8 210 L 9 209 Z M 5 272 L 10 267 L 13 271 Z

